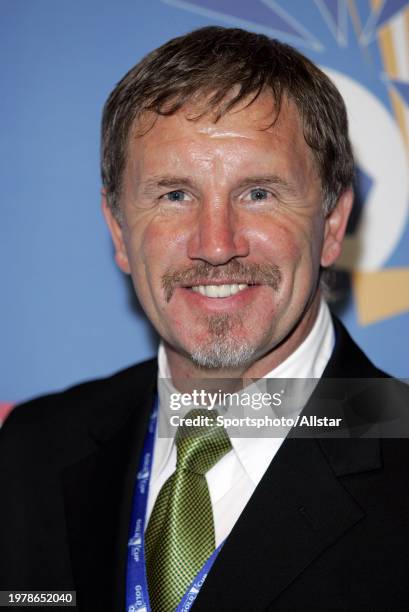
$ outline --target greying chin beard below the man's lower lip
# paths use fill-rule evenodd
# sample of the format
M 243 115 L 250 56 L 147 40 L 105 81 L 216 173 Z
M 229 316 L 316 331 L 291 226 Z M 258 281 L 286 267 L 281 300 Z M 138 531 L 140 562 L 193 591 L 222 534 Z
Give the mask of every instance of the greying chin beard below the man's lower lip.
M 206 370 L 234 369 L 248 366 L 256 349 L 235 337 L 242 327 L 240 317 L 221 314 L 208 317 L 210 339 L 190 353 L 193 363 Z

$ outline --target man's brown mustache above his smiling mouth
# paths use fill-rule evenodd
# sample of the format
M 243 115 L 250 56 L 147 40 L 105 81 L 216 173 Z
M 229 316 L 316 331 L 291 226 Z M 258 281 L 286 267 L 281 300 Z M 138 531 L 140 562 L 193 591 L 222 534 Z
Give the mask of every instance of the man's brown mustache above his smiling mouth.
M 282 274 L 275 264 L 243 263 L 232 259 L 224 266 L 213 266 L 201 261 L 184 270 L 169 269 L 162 276 L 162 289 L 166 302 L 170 302 L 178 287 L 193 287 L 204 281 L 228 281 L 234 284 L 268 285 L 277 291 Z

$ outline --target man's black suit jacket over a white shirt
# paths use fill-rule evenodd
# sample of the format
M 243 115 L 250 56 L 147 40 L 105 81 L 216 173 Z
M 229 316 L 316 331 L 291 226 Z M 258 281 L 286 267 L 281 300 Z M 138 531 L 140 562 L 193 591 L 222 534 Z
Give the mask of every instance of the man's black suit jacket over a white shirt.
M 335 325 L 324 378 L 386 376 Z M 155 383 L 152 360 L 11 414 L 0 432 L 0 589 L 75 589 L 82 612 L 125 609 L 133 483 Z M 365 436 L 384 399 L 351 400 L 341 388 L 336 411 Z M 401 408 L 406 400 L 404 391 Z M 348 429 L 343 439 L 287 438 L 194 611 L 408 610 L 408 466 L 406 439 Z

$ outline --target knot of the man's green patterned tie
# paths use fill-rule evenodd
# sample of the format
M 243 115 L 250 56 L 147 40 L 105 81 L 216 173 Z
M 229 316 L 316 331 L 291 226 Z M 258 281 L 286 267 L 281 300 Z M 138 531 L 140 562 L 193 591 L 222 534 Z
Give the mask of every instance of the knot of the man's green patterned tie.
M 216 423 L 217 412 L 201 408 L 190 410 L 186 419 L 192 425 L 181 425 L 176 433 L 177 469 L 206 474 L 229 450 L 230 438 Z

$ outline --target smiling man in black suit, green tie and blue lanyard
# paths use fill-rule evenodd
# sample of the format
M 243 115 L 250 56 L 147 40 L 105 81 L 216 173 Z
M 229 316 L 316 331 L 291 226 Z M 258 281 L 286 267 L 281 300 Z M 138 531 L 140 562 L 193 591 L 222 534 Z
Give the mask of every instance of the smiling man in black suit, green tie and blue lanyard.
M 161 337 L 159 381 L 152 360 L 12 414 L 2 588 L 75 589 L 85 611 L 147 609 L 148 590 L 159 612 L 405 609 L 408 446 L 366 435 L 381 394 L 344 379 L 386 375 L 320 292 L 353 200 L 334 85 L 265 36 L 192 32 L 112 92 L 102 176 L 116 262 Z M 322 378 L 297 414 L 343 379 L 341 439 L 210 427 L 197 450 L 182 427 L 160 435 L 175 391 L 278 378 Z

